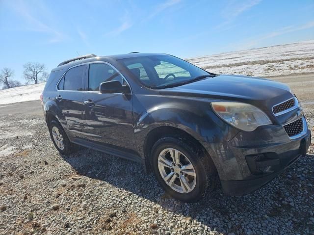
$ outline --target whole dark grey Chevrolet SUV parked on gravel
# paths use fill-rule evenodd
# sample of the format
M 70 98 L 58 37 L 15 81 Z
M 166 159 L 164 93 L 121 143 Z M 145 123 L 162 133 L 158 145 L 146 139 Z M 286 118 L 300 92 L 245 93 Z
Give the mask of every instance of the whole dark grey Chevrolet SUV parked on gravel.
M 252 192 L 305 156 L 311 141 L 287 85 L 212 74 L 168 54 L 64 61 L 42 104 L 61 154 L 77 144 L 141 162 L 185 202 L 219 180 L 228 195 Z

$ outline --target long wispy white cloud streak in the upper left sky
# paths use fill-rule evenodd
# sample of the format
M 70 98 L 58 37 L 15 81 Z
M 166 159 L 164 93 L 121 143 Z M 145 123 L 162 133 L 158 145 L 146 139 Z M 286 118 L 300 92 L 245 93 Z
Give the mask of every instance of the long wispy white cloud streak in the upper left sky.
M 24 1 L 19 1 L 18 3 L 14 1 L 13 4 L 9 4 L 9 6 L 23 18 L 23 23 L 26 24 L 24 30 L 50 34 L 51 38 L 47 41 L 48 43 L 60 42 L 66 38 L 61 32 L 33 16 L 31 9 Z

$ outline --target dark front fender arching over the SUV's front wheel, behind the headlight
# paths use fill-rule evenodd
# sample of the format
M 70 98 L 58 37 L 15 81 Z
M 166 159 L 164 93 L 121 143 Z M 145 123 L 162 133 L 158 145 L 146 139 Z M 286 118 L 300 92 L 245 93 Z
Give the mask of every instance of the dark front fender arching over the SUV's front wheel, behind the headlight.
M 151 106 L 135 119 L 135 141 L 142 157 L 147 136 L 158 127 L 177 128 L 200 142 L 227 142 L 238 133 L 213 113 L 208 99 L 185 99 L 184 103 L 182 97 L 180 102 L 169 102 L 169 97 L 167 100 L 164 104 L 157 101 L 158 105 Z

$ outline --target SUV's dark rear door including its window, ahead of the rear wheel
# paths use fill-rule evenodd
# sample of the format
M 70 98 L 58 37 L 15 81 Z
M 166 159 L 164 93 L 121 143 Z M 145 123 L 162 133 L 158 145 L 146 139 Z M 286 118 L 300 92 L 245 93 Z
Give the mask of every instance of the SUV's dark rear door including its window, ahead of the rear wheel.
M 57 85 L 56 104 L 65 118 L 67 130 L 74 137 L 84 137 L 83 78 L 87 65 L 70 68 Z

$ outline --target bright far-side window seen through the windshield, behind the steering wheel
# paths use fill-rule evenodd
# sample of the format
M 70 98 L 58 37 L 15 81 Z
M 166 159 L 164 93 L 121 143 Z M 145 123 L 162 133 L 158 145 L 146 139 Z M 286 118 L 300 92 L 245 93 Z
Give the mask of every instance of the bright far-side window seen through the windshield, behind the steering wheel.
M 176 76 L 176 78 L 191 77 L 188 71 L 184 70 L 183 68 L 177 65 L 165 61 L 160 61 L 160 64 L 158 64 L 154 68 L 158 74 L 158 77 L 162 79 L 165 78 L 168 74 L 173 74 Z M 173 78 L 173 76 L 170 76 L 169 78 Z

